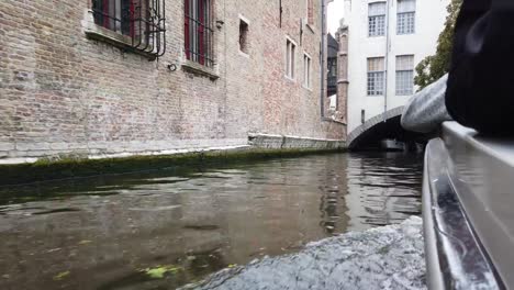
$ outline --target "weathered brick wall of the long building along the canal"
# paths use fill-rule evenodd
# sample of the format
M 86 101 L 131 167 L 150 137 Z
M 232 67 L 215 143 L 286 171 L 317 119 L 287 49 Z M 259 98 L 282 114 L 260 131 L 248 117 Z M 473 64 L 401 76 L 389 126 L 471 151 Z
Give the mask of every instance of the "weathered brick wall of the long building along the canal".
M 0 161 L 242 145 L 248 133 L 343 138 L 340 124 L 321 122 L 320 1 L 302 40 L 306 1 L 282 5 L 279 27 L 278 1 L 214 1 L 224 24 L 214 29 L 212 80 L 180 66 L 181 0 L 166 0 L 167 52 L 156 62 L 86 37 L 90 0 L 0 1 Z M 249 21 L 247 56 L 239 15 Z M 284 77 L 286 35 L 299 44 L 295 81 Z M 302 87 L 303 51 L 312 90 Z

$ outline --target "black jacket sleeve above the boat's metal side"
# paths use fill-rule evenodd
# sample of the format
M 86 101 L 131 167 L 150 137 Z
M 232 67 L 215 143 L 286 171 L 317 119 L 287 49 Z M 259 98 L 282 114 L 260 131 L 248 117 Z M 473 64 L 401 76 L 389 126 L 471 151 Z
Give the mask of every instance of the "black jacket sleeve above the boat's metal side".
M 456 24 L 446 107 L 482 133 L 514 135 L 514 1 L 465 0 Z

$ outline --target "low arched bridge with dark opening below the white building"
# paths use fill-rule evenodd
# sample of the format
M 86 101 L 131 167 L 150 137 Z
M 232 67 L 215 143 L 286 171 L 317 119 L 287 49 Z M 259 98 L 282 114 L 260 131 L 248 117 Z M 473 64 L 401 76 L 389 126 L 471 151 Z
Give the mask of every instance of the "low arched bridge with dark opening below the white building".
M 348 135 L 348 148 L 378 149 L 382 140 L 396 140 L 405 143 L 426 143 L 429 136 L 405 131 L 401 124 L 403 107 L 392 109 L 384 114 L 368 120 Z

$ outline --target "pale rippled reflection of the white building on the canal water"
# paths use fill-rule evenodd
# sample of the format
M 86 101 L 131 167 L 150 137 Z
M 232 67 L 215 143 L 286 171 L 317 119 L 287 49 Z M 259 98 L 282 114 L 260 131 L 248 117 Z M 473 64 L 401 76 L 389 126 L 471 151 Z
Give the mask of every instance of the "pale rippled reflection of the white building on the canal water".
M 400 223 L 421 213 L 422 155 L 351 154 L 346 171 L 348 231 Z

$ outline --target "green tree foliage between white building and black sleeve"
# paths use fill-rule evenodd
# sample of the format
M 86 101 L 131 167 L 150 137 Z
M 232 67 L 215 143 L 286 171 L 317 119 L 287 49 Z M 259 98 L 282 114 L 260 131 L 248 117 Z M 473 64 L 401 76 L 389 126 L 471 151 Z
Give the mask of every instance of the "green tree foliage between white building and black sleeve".
M 454 48 L 454 31 L 457 16 L 460 11 L 462 0 L 451 0 L 446 10 L 445 29 L 439 34 L 437 40 L 436 54 L 427 56 L 416 66 L 417 76 L 414 78 L 414 83 L 420 86 L 420 90 L 438 80 L 449 71 L 451 62 L 451 51 Z

